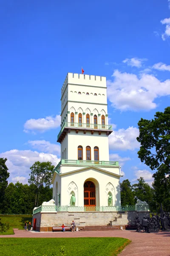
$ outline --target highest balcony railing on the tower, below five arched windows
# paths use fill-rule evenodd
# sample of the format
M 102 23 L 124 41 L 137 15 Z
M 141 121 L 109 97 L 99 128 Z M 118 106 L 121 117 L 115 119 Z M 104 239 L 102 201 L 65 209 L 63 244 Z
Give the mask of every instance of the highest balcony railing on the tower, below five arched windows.
M 112 130 L 112 125 L 98 125 L 98 124 L 83 124 L 83 123 L 72 123 L 72 122 L 65 122 L 57 136 L 57 140 L 59 139 L 60 135 L 64 128 L 84 128 L 84 129 L 97 129 L 97 130 Z

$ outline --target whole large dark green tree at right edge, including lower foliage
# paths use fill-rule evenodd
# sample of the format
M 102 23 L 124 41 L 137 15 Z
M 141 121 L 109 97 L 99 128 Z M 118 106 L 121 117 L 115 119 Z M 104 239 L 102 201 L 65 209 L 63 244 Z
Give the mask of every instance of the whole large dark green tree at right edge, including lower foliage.
M 138 122 L 141 143 L 138 157 L 142 162 L 156 170 L 154 177 L 154 200 L 166 209 L 170 202 L 170 107 L 164 112 L 156 112 L 154 119 L 142 119 Z

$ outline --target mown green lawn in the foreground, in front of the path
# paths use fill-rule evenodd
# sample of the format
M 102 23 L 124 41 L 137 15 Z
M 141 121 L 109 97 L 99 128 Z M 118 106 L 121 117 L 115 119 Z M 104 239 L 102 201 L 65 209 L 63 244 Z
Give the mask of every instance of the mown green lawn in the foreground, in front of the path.
M 55 252 L 65 246 L 65 256 L 116 256 L 130 240 L 117 237 L 93 238 L 3 238 L 0 239 L 1 256 L 31 256 Z

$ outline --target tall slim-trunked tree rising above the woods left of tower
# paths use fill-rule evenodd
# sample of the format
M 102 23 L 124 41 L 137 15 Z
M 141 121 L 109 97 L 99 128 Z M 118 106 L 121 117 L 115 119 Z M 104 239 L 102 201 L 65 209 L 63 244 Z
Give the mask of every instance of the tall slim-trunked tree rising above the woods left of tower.
M 51 185 L 51 179 L 54 171 L 54 167 L 51 162 L 35 162 L 30 167 L 31 174 L 28 182 L 34 184 L 37 187 L 35 195 L 35 206 L 39 204 L 40 191 L 43 186 L 49 187 Z M 38 194 L 38 198 L 37 198 Z

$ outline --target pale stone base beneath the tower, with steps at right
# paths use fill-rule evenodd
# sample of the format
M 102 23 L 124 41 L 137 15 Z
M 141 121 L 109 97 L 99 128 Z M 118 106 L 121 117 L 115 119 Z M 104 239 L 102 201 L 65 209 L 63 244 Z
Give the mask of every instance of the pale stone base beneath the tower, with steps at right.
M 120 226 L 135 225 L 136 216 L 142 222 L 143 217 L 150 217 L 150 212 L 38 212 L 33 215 L 33 230 L 52 232 L 52 227 L 62 224 L 71 226 L 74 220 L 76 227 L 94 225 Z

